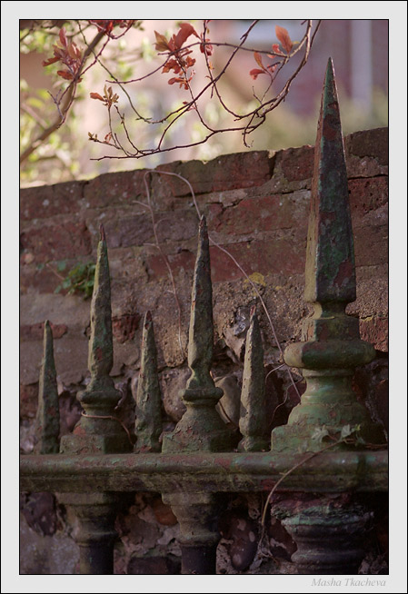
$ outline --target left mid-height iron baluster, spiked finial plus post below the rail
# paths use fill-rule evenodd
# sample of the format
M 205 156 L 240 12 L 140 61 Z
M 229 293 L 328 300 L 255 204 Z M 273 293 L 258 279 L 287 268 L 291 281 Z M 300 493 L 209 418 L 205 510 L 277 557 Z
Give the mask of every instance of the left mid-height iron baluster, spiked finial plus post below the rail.
M 91 381 L 77 398 L 85 412 L 72 435 L 61 440 L 62 453 L 120 453 L 132 449 L 124 427 L 115 418 L 121 397 L 109 376 L 113 365 L 111 289 L 104 229 L 98 243 L 95 286 L 91 303 L 88 367 Z M 75 541 L 80 549 L 82 574 L 112 574 L 114 518 L 118 495 L 113 492 L 64 493 L 59 500 L 75 511 Z

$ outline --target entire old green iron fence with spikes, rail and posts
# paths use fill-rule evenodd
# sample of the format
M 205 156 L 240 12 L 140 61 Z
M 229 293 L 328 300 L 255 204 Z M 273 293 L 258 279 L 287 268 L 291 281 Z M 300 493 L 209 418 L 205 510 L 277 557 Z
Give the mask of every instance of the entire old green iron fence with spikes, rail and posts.
M 163 444 L 150 312 L 144 318 L 134 448 L 114 415 L 121 394 L 109 376 L 113 340 L 103 229 L 91 305 L 91 381 L 77 396 L 82 418 L 61 443 L 53 338 L 45 322 L 38 443 L 33 455 L 21 457 L 20 487 L 57 492 L 58 500 L 74 510 L 81 573 L 113 573 L 114 519 L 125 492 L 161 493 L 180 524 L 182 572 L 214 574 L 220 494 L 272 489 L 280 497 L 271 511 L 297 545 L 292 561 L 298 573 L 357 572 L 371 510 L 362 504 L 364 498 L 353 496 L 387 490 L 387 452 L 381 446 L 383 432 L 352 390 L 354 368 L 372 361 L 374 350 L 360 340 L 358 319 L 345 314 L 347 303 L 356 298 L 353 231 L 331 60 L 314 159 L 305 278 L 305 301 L 313 305 L 313 315 L 304 321 L 302 342 L 284 353 L 288 366 L 303 370 L 307 387 L 287 424 L 275 428 L 272 436 L 265 431 L 263 348 L 254 308 L 246 338 L 238 438 L 215 410 L 223 391 L 215 387 L 210 372 L 213 310 L 204 218 L 194 268 L 186 411 L 174 431 L 164 434 Z M 316 431 L 324 431 L 331 441 L 316 440 Z

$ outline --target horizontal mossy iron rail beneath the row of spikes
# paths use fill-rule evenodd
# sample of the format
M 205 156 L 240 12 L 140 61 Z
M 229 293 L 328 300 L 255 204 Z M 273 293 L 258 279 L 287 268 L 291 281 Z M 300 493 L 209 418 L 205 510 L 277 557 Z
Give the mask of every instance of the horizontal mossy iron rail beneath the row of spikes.
M 269 491 L 308 454 L 65 454 L 20 458 L 20 489 L 28 491 Z M 325 451 L 294 469 L 279 491 L 386 491 L 388 452 Z

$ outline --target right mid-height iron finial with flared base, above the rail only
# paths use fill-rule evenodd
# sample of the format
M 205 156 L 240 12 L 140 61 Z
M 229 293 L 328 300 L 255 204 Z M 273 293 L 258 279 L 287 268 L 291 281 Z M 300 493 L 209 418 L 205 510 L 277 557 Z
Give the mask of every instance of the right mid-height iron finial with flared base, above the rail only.
M 233 447 L 234 435 L 215 411 L 223 395 L 211 377 L 213 359 L 213 288 L 210 249 L 204 216 L 198 229 L 198 250 L 188 336 L 188 366 L 191 376 L 182 391 L 186 411 L 173 433 L 164 435 L 164 451 L 220 451 Z

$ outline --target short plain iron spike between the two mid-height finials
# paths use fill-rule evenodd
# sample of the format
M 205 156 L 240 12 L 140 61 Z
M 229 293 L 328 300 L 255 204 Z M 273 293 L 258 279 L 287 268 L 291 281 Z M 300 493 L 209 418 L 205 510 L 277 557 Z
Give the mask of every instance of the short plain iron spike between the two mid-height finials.
M 151 312 L 144 317 L 142 362 L 136 391 L 136 444 L 134 451 L 160 451 L 162 397 L 157 374 L 157 351 Z

